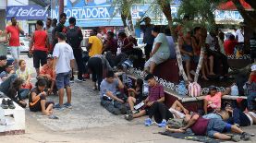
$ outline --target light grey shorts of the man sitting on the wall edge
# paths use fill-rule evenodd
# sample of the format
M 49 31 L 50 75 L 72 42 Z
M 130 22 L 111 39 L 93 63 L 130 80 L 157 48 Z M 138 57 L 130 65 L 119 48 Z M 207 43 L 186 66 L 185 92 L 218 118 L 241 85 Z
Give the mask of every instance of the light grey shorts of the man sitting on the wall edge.
M 170 57 L 169 53 L 153 54 L 152 57 L 145 63 L 144 67 L 149 67 L 152 62 L 155 63 L 156 65 L 159 65 L 159 64 L 165 62 L 166 60 L 168 60 L 169 57 Z

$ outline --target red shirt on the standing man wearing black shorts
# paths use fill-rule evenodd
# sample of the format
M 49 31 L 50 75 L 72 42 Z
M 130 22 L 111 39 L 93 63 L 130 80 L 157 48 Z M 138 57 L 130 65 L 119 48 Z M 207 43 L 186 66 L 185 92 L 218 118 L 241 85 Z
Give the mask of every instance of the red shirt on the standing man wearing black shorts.
M 47 39 L 47 33 L 45 30 L 35 30 L 34 31 L 34 50 L 47 52 L 48 49 L 46 48 L 46 39 Z

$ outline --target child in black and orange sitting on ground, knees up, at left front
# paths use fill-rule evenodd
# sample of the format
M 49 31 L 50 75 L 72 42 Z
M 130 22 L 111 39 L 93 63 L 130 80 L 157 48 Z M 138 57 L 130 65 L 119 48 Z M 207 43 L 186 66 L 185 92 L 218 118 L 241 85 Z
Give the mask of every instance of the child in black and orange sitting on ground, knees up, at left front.
M 47 82 L 45 79 L 39 79 L 34 89 L 30 92 L 30 111 L 31 112 L 43 112 L 44 115 L 53 114 L 53 107 L 55 103 L 53 101 L 46 102 L 46 92 L 44 91 Z

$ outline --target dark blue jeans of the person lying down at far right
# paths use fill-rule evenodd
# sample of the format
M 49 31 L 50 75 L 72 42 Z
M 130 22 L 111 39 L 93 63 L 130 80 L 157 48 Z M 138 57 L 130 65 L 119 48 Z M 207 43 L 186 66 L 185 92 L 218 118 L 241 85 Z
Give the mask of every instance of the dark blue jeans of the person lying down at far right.
M 233 110 L 233 116 L 227 120 L 227 123 L 231 125 L 238 124 L 240 126 L 248 126 L 250 125 L 250 119 L 241 110 L 239 110 L 238 108 L 235 108 Z

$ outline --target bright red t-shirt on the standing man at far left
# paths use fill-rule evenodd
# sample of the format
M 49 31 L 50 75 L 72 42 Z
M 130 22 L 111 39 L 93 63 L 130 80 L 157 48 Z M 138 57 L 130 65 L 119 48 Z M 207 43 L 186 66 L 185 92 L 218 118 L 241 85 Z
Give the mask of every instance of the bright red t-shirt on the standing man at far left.
M 19 30 L 17 26 L 7 26 L 6 32 L 11 34 L 10 40 L 9 40 L 9 46 L 20 46 L 19 43 Z

